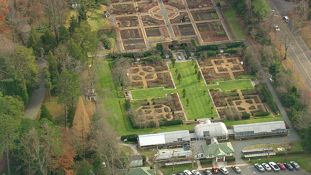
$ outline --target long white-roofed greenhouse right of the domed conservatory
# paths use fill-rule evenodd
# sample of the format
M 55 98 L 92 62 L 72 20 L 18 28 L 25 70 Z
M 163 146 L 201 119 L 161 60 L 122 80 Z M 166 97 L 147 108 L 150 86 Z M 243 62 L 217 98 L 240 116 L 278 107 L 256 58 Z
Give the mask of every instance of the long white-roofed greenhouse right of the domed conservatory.
M 233 125 L 236 139 L 287 135 L 284 121 Z

